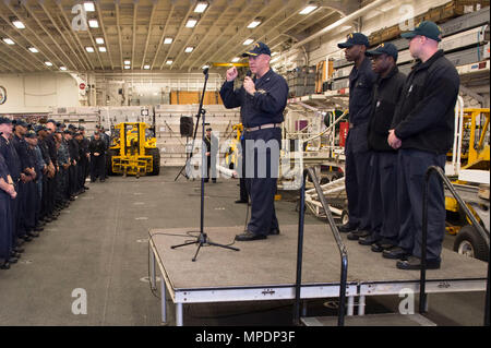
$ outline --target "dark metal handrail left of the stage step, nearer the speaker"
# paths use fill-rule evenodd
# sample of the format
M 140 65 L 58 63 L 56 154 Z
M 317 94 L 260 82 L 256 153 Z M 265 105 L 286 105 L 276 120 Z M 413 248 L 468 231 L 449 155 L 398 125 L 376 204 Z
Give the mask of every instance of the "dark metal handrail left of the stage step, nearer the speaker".
M 339 254 L 342 259 L 342 271 L 340 271 L 340 281 L 339 281 L 339 312 L 337 316 L 337 325 L 345 325 L 345 308 L 346 308 L 346 283 L 348 278 L 348 252 L 345 244 L 340 238 L 339 231 L 336 224 L 334 223 L 333 215 L 331 214 L 327 201 L 322 192 L 321 185 L 319 183 L 318 176 L 312 168 L 307 168 L 303 170 L 303 181 L 300 189 L 300 211 L 298 218 L 298 249 L 297 249 L 297 281 L 295 285 L 295 308 L 294 308 L 294 324 L 300 324 L 300 289 L 301 289 L 301 277 L 302 277 L 302 249 L 303 249 L 303 225 L 304 225 L 304 209 L 306 209 L 306 180 L 307 176 L 312 180 L 315 191 L 319 194 L 322 207 L 327 216 L 327 221 L 331 225 L 331 230 L 333 232 L 334 239 L 336 240 L 337 248 L 339 249 Z

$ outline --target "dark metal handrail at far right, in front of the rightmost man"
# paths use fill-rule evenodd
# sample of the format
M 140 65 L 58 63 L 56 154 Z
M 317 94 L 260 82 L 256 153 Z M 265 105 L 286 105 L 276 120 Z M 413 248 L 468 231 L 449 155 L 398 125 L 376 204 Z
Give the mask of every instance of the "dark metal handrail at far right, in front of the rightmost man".
M 426 312 L 426 303 L 427 303 L 427 295 L 426 295 L 426 280 L 427 280 L 427 239 L 428 239 L 428 183 L 430 181 L 431 175 L 436 173 L 440 179 L 443 181 L 443 183 L 446 185 L 446 188 L 450 190 L 452 195 L 455 197 L 455 200 L 458 202 L 458 205 L 464 211 L 464 213 L 467 215 L 467 217 L 472 223 L 472 226 L 477 229 L 479 235 L 483 238 L 486 241 L 488 249 L 490 247 L 489 244 L 489 231 L 486 231 L 484 228 L 478 223 L 474 214 L 469 211 L 465 202 L 462 200 L 462 197 L 458 195 L 455 188 L 452 185 L 452 182 L 448 180 L 448 178 L 443 172 L 442 168 L 436 166 L 430 166 L 427 169 L 426 172 L 426 182 L 424 182 L 424 193 L 423 193 L 423 212 L 422 212 L 422 233 L 421 233 L 421 276 L 420 276 L 420 283 L 419 283 L 419 312 L 424 313 Z M 489 326 L 489 288 L 490 288 L 490 269 L 489 269 L 489 262 L 488 262 L 488 284 L 487 284 L 487 290 L 486 290 L 486 305 L 484 305 L 484 325 Z

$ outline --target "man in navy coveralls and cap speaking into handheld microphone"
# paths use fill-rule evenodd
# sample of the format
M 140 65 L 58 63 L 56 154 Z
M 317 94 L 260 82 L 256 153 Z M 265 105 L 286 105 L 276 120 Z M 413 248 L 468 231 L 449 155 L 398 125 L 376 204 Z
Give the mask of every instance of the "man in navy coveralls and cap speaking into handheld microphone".
M 271 69 L 271 50 L 265 44 L 254 44 L 242 57 L 249 58 L 250 73 L 240 88 L 233 88 L 238 71 L 235 67 L 227 70 L 220 96 L 227 109 L 241 107 L 247 164 L 242 176 L 251 199 L 251 219 L 236 240 L 251 241 L 279 235 L 274 203 L 288 84 Z

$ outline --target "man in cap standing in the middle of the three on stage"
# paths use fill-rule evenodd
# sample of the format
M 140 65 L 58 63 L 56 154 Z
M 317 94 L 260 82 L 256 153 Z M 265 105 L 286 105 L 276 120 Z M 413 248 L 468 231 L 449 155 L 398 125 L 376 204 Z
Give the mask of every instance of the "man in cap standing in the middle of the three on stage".
M 376 49 L 367 51 L 366 56 L 372 58 L 373 71 L 379 79 L 368 132 L 372 151 L 369 189 L 372 233 L 358 242 L 372 245 L 374 252 L 382 252 L 397 245 L 397 151 L 388 146 L 387 134 L 406 75 L 397 68 L 398 52 L 393 44 L 381 44 Z

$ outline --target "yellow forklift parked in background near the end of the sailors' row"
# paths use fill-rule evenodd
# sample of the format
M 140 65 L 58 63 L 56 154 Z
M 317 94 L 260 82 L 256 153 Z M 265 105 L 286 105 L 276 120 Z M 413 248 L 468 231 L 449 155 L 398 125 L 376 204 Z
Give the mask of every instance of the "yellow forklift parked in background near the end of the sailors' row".
M 115 125 L 108 153 L 109 175 L 158 176 L 160 152 L 157 140 L 145 122 Z

